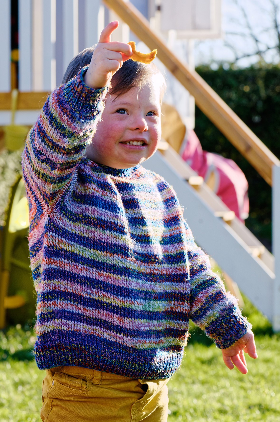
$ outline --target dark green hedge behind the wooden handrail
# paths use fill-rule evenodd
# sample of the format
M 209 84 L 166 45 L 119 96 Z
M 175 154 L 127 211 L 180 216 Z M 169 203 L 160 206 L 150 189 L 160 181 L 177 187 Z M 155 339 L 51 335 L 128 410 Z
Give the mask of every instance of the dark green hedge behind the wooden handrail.
M 200 66 L 196 70 L 280 158 L 280 67 L 212 70 Z M 250 200 L 246 225 L 270 249 L 271 188 L 197 107 L 195 132 L 203 149 L 232 158 L 245 173 Z

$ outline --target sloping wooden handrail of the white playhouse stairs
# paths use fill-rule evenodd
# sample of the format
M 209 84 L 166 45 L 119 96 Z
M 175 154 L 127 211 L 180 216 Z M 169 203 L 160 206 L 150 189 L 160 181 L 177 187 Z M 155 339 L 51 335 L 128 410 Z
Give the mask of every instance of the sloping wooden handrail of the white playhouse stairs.
M 201 111 L 272 186 L 272 167 L 280 160 L 261 142 L 232 109 L 209 87 L 197 72 L 189 70 L 167 46 L 165 40 L 149 27 L 149 22 L 130 2 L 103 0 L 120 16 L 131 30 L 150 49 L 157 49 L 157 57 L 179 82 L 195 97 Z

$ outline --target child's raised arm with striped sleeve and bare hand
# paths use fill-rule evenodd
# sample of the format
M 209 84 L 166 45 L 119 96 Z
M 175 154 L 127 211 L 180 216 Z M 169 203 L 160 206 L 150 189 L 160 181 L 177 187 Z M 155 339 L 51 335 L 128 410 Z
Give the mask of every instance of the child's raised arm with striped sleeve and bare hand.
M 111 42 L 117 26 L 115 21 L 104 28 L 88 68 L 48 97 L 27 137 L 22 155 L 27 191 L 47 207 L 71 179 L 100 120 L 112 75 L 132 53 L 128 44 Z

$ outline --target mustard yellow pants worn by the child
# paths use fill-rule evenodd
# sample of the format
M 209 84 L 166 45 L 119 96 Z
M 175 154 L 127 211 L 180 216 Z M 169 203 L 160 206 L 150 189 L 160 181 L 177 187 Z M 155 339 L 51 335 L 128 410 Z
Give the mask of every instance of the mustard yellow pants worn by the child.
M 48 369 L 41 419 L 46 422 L 166 422 L 168 379 L 139 380 L 79 366 Z

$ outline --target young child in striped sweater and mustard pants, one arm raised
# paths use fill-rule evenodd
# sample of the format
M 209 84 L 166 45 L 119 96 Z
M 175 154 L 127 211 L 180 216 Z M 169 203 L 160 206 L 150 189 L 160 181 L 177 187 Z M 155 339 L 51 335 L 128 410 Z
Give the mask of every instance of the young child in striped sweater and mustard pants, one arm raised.
M 140 165 L 160 141 L 165 82 L 111 42 L 117 25 L 72 60 L 22 156 L 43 421 L 166 421 L 190 318 L 229 369 L 257 357 L 172 187 Z

